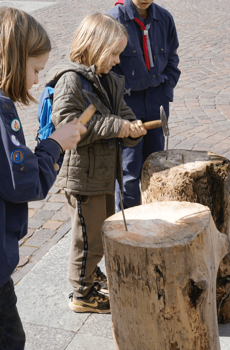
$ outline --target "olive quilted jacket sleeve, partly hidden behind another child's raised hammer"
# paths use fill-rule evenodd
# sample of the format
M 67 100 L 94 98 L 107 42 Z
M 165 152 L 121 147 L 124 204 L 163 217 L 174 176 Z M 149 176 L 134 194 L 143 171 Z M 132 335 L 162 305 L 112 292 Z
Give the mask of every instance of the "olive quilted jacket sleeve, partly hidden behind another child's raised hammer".
M 85 110 L 85 103 L 81 90 L 81 80 L 74 72 L 65 73 L 58 79 L 54 90 L 54 101 L 51 119 L 56 128 L 68 123 L 75 117 L 80 117 Z M 108 114 L 94 114 L 85 125 L 87 132 L 82 135 L 78 146 L 84 146 L 99 139 L 112 139 L 119 135 L 121 117 Z

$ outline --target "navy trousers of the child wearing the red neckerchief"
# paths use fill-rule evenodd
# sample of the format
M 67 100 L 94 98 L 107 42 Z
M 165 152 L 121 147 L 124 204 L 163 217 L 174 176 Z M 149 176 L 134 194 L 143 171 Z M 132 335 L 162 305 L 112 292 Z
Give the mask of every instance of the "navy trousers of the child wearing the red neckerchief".
M 164 107 L 166 116 L 169 116 L 169 101 L 161 90 L 161 85 L 149 87 L 142 91 L 131 91 L 130 96 L 124 95 L 126 104 L 132 109 L 137 119 L 146 121 L 160 119 L 160 106 Z M 147 157 L 165 148 L 165 138 L 162 127 L 148 130 L 142 140 L 134 147 L 121 146 L 123 157 L 123 186 L 124 209 L 140 205 L 140 180 L 142 166 Z M 116 205 L 121 210 L 119 196 L 120 191 L 116 181 Z

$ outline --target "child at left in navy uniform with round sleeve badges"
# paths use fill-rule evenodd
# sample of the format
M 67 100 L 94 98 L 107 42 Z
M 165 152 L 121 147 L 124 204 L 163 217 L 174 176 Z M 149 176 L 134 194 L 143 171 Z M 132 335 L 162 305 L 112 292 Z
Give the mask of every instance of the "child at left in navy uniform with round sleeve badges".
M 29 92 L 51 50 L 44 28 L 19 9 L 0 9 L 0 349 L 23 350 L 25 333 L 16 308 L 11 274 L 19 262 L 18 241 L 27 234 L 28 201 L 42 200 L 56 179 L 55 162 L 73 148 L 83 126 L 77 119 L 26 147 L 14 102 L 35 101 Z

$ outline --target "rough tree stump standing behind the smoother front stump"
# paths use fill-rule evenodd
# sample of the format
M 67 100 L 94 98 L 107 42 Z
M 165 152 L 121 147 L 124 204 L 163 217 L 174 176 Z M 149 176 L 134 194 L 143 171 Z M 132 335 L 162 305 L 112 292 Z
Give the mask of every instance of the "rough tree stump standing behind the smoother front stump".
M 230 161 L 206 151 L 173 149 L 151 154 L 142 169 L 141 202 L 188 201 L 207 205 L 217 229 L 230 237 Z M 230 322 L 230 256 L 219 265 L 219 323 Z

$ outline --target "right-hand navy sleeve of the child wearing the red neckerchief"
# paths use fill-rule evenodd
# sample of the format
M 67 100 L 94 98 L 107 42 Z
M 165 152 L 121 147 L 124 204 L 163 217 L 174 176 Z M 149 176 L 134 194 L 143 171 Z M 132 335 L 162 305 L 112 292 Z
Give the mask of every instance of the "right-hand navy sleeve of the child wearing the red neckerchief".
M 179 47 L 179 42 L 176 33 L 175 23 L 172 20 L 171 32 L 170 32 L 170 48 L 168 54 L 168 62 L 163 71 L 167 76 L 167 80 L 163 83 L 162 90 L 169 97 L 169 101 L 173 101 L 173 89 L 176 86 L 179 77 L 180 77 L 180 69 L 177 68 L 179 64 L 179 57 L 176 53 L 177 48 Z

